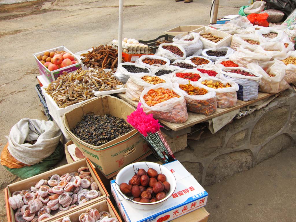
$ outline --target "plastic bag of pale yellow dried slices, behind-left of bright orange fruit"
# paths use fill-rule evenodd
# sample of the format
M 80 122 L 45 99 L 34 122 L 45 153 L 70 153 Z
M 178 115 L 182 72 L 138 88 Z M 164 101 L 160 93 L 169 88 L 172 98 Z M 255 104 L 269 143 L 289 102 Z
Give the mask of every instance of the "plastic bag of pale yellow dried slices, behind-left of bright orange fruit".
M 169 76 L 156 76 L 152 74 L 132 75 L 126 82 L 126 97 L 133 101 L 139 101 L 144 88 L 159 83 L 171 84 Z

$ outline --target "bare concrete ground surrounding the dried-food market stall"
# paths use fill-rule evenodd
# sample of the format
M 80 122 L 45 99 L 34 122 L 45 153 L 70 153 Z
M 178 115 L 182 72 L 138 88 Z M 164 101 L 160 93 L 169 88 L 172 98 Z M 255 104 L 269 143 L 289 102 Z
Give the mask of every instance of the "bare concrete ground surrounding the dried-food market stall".
M 208 25 L 210 4 L 205 0 L 189 4 L 126 0 L 123 37 L 150 40 L 178 25 Z M 237 14 L 246 4 L 246 0 L 221 0 L 218 16 Z M 118 0 L 37 0 L 1 5 L 0 151 L 7 143 L 5 135 L 18 120 L 46 120 L 34 89 L 39 71 L 33 53 L 61 45 L 78 52 L 110 44 L 114 38 L 118 38 Z M 296 221 L 292 201 L 295 178 L 295 149 L 289 148 L 252 170 L 206 187 L 210 221 Z M 0 166 L 1 190 L 17 180 Z M 1 221 L 7 221 L 3 190 Z

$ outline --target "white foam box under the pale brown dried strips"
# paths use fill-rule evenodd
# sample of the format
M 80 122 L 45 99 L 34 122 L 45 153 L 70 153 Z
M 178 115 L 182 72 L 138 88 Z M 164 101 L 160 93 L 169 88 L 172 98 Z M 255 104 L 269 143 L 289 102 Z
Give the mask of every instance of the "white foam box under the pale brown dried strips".
M 47 86 L 41 87 L 41 91 L 42 91 L 42 93 L 43 93 L 43 95 L 45 97 L 45 101 L 46 101 L 46 104 L 47 104 L 47 107 L 48 107 L 48 110 L 49 110 L 49 114 L 52 116 L 52 119 L 53 119 L 54 123 L 56 123 L 57 126 L 61 129 L 61 131 L 62 131 L 63 135 L 65 136 L 65 138 L 70 140 L 71 137 L 67 133 L 66 128 L 65 128 L 65 126 L 63 124 L 63 119 L 62 119 L 63 114 L 65 112 L 68 112 L 69 110 L 72 110 L 75 107 L 80 106 L 83 103 L 86 103 L 86 102 L 91 101 L 92 99 L 95 99 L 96 97 L 84 100 L 82 102 L 78 102 L 76 104 L 67 106 L 65 108 L 59 108 L 58 105 L 56 104 L 56 102 L 54 102 L 54 100 L 52 99 L 52 97 L 49 94 L 47 94 L 46 88 L 47 88 Z

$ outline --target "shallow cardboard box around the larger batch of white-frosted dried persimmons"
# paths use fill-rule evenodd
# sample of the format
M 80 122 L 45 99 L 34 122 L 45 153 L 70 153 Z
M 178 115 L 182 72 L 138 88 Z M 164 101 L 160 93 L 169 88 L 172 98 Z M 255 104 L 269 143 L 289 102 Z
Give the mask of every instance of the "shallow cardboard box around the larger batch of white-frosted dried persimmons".
M 65 211 L 63 213 L 60 213 L 58 215 L 52 216 L 52 217 L 50 217 L 48 219 L 45 219 L 45 220 L 43 220 L 43 222 L 53 221 L 53 220 L 57 219 L 58 217 L 64 216 L 67 213 L 70 213 L 70 212 L 73 212 L 73 211 L 76 211 L 76 210 L 80 210 L 80 209 L 82 209 L 82 208 L 84 208 L 86 206 L 89 206 L 89 205 L 91 205 L 91 204 L 93 204 L 95 202 L 104 200 L 107 197 L 109 197 L 109 194 L 108 194 L 106 188 L 102 184 L 101 179 L 99 178 L 96 171 L 92 167 L 90 161 L 87 158 L 85 158 L 85 159 L 82 159 L 82 160 L 75 161 L 74 163 L 66 164 L 66 165 L 60 166 L 58 168 L 55 168 L 53 170 L 49 170 L 49 171 L 47 171 L 45 173 L 41 173 L 39 175 L 30 177 L 28 179 L 24 179 L 24 180 L 21 180 L 21 181 L 18 181 L 16 183 L 8 185 L 4 190 L 8 221 L 9 222 L 15 222 L 14 210 L 9 206 L 9 203 L 8 203 L 8 199 L 9 199 L 9 197 L 11 197 L 11 194 L 13 192 L 15 192 L 17 190 L 25 190 L 25 189 L 30 190 L 30 187 L 35 186 L 36 183 L 38 181 L 40 181 L 41 179 L 47 179 L 48 180 L 48 178 L 50 178 L 54 174 L 59 174 L 61 176 L 61 175 L 65 174 L 65 173 L 71 173 L 73 171 L 77 171 L 78 168 L 83 167 L 83 166 L 87 166 L 89 168 L 89 172 L 91 172 L 90 176 L 98 184 L 99 191 L 101 192 L 101 196 L 97 197 L 97 198 L 95 198 L 93 200 L 90 200 L 89 202 L 86 202 L 86 203 L 84 203 L 82 205 L 74 207 L 74 208 L 72 208 L 70 210 L 67 210 L 67 211 Z

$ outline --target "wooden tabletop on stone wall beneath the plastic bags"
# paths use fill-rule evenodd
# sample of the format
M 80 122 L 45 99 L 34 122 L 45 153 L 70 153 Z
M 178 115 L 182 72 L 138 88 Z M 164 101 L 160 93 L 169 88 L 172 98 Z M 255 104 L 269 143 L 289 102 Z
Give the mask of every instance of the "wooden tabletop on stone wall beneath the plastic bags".
M 126 101 L 129 104 L 131 104 L 133 107 L 135 107 L 135 108 L 137 107 L 138 102 L 132 101 L 131 99 L 127 98 L 126 94 L 118 93 L 116 95 L 120 99 L 122 99 L 123 101 Z M 188 120 L 186 120 L 185 123 L 170 123 L 168 121 L 161 120 L 161 119 L 159 119 L 159 122 L 162 123 L 163 125 L 165 125 L 166 127 L 168 127 L 169 129 L 173 130 L 173 131 L 179 131 L 181 129 L 191 127 L 191 126 L 193 126 L 193 125 L 195 125 L 197 123 L 202 123 L 202 122 L 210 120 L 210 119 L 212 119 L 214 117 L 223 115 L 224 113 L 230 112 L 232 110 L 236 110 L 236 109 L 239 109 L 241 107 L 250 105 L 250 104 L 255 103 L 255 102 L 259 101 L 259 100 L 266 99 L 266 98 L 268 98 L 269 96 L 272 96 L 272 95 L 274 95 L 274 94 L 259 92 L 257 99 L 250 100 L 250 101 L 247 101 L 247 102 L 244 102 L 242 100 L 237 100 L 237 105 L 236 106 L 230 107 L 230 108 L 225 108 L 225 109 L 217 108 L 216 112 L 214 112 L 213 114 L 208 115 L 208 116 L 202 115 L 202 114 L 197 114 L 197 113 L 194 113 L 194 112 L 188 112 Z

